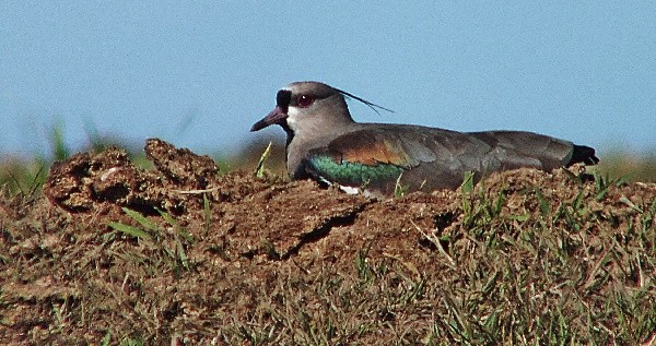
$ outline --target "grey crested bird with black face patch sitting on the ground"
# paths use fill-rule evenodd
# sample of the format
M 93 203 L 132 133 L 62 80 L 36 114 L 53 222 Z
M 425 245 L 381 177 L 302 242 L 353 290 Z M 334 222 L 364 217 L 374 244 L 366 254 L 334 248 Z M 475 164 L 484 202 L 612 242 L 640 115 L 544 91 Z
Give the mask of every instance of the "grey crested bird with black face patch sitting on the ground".
M 314 179 L 378 198 L 399 191 L 456 190 L 468 172 L 478 182 L 520 167 L 552 171 L 599 162 L 593 147 L 534 132 L 356 122 L 347 99 L 376 112 L 389 110 L 325 83 L 294 82 L 278 92 L 273 110 L 250 131 L 272 124 L 284 130 L 292 180 Z

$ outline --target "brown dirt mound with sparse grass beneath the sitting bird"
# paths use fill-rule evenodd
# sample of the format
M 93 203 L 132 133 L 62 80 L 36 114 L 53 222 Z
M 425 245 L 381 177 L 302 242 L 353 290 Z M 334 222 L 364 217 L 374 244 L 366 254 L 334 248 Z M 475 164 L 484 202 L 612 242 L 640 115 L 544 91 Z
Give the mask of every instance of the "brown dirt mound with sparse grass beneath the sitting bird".
M 389 200 L 220 176 L 149 140 L 0 201 L 0 339 L 635 344 L 656 329 L 656 188 L 567 170 Z

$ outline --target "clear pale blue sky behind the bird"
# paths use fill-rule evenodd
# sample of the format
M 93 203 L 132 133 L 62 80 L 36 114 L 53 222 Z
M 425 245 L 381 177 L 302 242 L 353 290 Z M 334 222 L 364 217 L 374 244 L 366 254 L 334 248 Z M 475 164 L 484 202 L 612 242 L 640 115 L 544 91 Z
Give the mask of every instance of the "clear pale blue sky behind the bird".
M 654 2 L 411 3 L 2 1 L 0 155 L 48 153 L 57 121 L 74 148 L 92 129 L 230 152 L 302 80 L 395 110 L 359 121 L 656 150 Z

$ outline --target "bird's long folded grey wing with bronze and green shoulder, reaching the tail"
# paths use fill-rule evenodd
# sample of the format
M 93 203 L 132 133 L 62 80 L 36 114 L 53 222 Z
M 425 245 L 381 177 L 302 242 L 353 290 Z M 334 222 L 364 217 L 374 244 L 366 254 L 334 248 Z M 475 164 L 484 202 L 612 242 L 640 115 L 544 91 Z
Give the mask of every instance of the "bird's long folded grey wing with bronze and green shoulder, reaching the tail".
M 493 171 L 534 167 L 552 170 L 576 156 L 571 142 L 519 131 L 461 133 L 414 126 L 371 126 L 311 151 L 305 170 L 343 186 L 394 191 L 454 189 L 466 171 L 480 179 Z M 594 157 L 594 151 L 591 151 Z M 596 159 L 596 157 L 594 157 Z M 399 176 L 402 179 L 399 180 Z

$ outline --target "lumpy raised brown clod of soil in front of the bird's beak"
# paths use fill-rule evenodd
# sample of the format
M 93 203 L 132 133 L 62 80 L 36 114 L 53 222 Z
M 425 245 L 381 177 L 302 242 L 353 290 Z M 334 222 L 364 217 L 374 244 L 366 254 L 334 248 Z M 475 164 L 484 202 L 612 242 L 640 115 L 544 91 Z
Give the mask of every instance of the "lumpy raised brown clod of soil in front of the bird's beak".
M 196 199 L 180 191 L 206 189 L 216 182 L 219 168 L 209 156 L 156 139 L 147 142 L 145 155 L 155 170 L 138 169 L 118 148 L 94 156 L 74 155 L 52 165 L 44 193 L 52 204 L 73 213 L 118 205 L 150 214 L 155 208 L 181 214 Z

